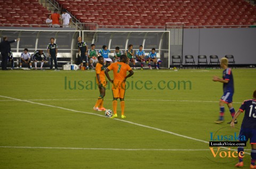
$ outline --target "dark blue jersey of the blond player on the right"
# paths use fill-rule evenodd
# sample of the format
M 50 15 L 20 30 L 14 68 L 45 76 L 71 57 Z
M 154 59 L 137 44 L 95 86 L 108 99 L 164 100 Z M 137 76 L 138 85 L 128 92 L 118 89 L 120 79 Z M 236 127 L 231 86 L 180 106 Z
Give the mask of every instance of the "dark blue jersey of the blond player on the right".
M 222 79 L 225 79 L 228 81 L 228 83 L 223 83 L 223 92 L 234 93 L 235 92 L 234 79 L 233 79 L 233 74 L 230 68 L 223 70 Z

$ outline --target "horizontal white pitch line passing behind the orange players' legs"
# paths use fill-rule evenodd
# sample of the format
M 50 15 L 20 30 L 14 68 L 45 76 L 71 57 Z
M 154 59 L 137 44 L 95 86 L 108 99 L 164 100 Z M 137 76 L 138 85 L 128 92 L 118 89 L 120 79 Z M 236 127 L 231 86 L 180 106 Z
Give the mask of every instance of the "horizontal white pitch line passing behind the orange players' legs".
M 65 100 L 89 100 L 89 99 L 33 99 L 33 100 L 0 100 L 0 101 L 51 101 L 51 100 L 60 100 L 60 101 L 65 101 Z M 90 99 L 91 100 L 91 99 Z M 105 100 L 112 100 L 112 99 L 105 99 Z M 130 100 L 130 101 L 174 101 L 174 102 L 206 102 L 206 103 L 218 103 L 219 101 L 204 101 L 204 100 L 164 100 L 164 99 L 125 99 L 125 100 Z M 240 103 L 242 104 L 243 102 L 233 102 L 233 103 Z

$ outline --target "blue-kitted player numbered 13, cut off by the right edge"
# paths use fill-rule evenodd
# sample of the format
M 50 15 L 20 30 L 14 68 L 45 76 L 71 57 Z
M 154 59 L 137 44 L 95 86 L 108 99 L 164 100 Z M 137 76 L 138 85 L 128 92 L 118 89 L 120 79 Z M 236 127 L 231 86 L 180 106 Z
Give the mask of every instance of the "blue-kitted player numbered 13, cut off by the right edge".
M 252 146 L 251 150 L 251 165 L 250 168 L 256 168 L 256 90 L 253 92 L 253 99 L 245 100 L 239 110 L 236 112 L 234 118 L 231 120 L 230 126 L 235 127 L 235 119 L 244 112 L 244 119 L 241 125 L 238 139 L 239 141 L 248 141 L 250 139 L 250 144 Z M 241 139 L 245 136 L 245 140 Z M 238 154 L 244 151 L 244 147 L 238 147 Z M 243 156 L 239 157 L 239 162 L 235 165 L 236 167 L 243 167 Z

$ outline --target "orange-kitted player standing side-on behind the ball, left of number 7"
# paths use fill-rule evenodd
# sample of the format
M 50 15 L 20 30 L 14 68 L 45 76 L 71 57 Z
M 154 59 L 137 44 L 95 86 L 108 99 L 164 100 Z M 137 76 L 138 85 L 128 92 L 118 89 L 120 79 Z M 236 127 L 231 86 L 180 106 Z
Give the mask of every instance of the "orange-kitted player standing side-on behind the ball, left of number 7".
M 103 66 L 104 64 L 104 58 L 102 56 L 98 57 L 98 61 L 99 63 L 96 64 L 95 70 L 96 70 L 96 81 L 100 90 L 100 96 L 95 104 L 95 106 L 93 107 L 93 109 L 95 111 L 102 111 L 102 110 L 106 110 L 103 107 L 103 98 L 105 96 L 105 92 L 106 92 L 106 85 L 107 85 L 107 81 L 106 81 L 106 77 L 105 77 L 105 68 Z M 99 106 L 99 108 L 98 108 Z

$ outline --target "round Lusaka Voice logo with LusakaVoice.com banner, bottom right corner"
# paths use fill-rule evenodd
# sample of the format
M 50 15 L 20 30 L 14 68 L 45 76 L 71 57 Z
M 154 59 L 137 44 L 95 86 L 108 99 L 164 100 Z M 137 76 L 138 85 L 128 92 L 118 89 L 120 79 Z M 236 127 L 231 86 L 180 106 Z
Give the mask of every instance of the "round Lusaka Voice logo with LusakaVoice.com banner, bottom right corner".
M 239 128 L 226 126 L 216 132 L 210 132 L 210 153 L 206 158 L 215 163 L 233 163 L 238 157 L 245 157 L 245 152 L 237 151 L 237 147 L 247 149 L 245 135 L 239 135 L 239 131 Z

